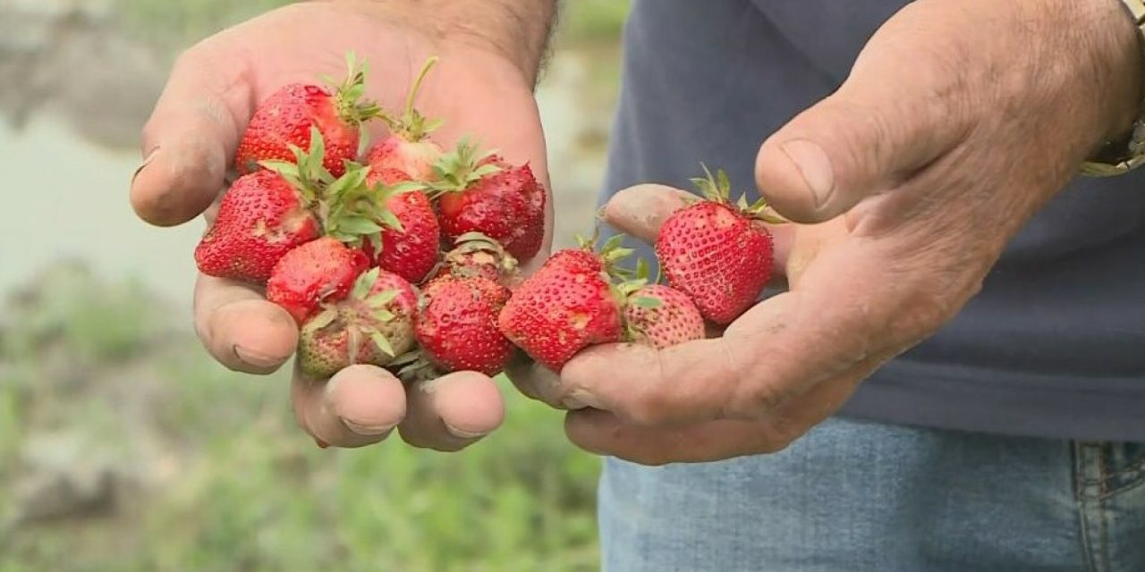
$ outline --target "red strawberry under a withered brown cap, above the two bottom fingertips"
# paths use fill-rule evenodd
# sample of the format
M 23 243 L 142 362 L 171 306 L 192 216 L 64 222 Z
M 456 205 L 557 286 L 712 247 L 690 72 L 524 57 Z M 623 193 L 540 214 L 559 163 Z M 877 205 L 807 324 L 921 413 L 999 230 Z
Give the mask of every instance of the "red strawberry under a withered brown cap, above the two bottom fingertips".
M 416 333 L 421 351 L 442 372 L 496 375 L 513 344 L 497 328 L 508 288 L 482 276 L 445 276 L 423 289 Z

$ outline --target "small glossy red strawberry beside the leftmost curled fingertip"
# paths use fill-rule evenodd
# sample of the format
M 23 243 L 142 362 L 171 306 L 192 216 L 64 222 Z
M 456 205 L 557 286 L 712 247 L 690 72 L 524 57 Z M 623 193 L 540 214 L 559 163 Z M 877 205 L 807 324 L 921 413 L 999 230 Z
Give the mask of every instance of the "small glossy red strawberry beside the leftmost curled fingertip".
M 361 251 L 331 237 L 287 253 L 267 281 L 267 300 L 283 307 L 301 325 L 325 302 L 346 297 L 369 265 Z

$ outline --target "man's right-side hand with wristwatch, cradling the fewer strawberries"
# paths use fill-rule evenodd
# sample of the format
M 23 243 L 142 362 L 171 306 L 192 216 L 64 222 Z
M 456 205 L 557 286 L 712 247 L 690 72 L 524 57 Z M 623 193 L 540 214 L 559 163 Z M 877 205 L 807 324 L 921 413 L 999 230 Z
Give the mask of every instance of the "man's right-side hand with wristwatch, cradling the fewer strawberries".
M 527 391 L 589 406 L 569 413 L 570 438 L 637 462 L 785 447 L 979 291 L 1026 221 L 1129 128 L 1142 65 L 1118 0 L 911 3 L 759 152 L 759 189 L 802 223 L 789 291 L 719 337 L 592 348 Z M 650 241 L 679 207 L 642 185 L 606 219 Z

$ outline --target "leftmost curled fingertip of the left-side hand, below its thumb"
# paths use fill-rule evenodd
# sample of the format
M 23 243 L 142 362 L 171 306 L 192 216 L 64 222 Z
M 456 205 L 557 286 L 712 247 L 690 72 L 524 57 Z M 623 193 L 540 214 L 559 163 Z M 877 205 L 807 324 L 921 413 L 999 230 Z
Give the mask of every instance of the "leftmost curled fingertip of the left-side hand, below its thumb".
M 199 275 L 195 331 L 212 356 L 245 373 L 277 371 L 298 345 L 294 319 L 256 288 Z

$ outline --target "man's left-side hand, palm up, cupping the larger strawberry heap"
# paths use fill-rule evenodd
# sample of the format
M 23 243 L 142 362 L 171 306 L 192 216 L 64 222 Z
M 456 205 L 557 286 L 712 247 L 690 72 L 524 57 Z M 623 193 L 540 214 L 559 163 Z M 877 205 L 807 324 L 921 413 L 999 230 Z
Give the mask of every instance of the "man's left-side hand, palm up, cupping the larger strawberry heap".
M 445 120 L 434 136 L 451 145 L 469 134 L 511 161 L 530 161 L 547 184 L 532 87 L 552 8 L 552 0 L 482 2 L 481 10 L 447 0 L 302 2 L 227 30 L 179 59 L 143 133 L 147 159 L 132 204 L 157 225 L 207 210 L 255 105 L 285 84 L 337 77 L 349 50 L 369 61 L 368 93 L 388 110 L 400 108 L 426 58 L 440 56 L 418 102 Z M 546 229 L 535 262 L 547 255 Z M 207 276 L 196 287 L 195 325 L 211 353 L 242 372 L 277 370 L 298 343 L 293 319 L 262 292 Z M 292 395 L 299 423 L 335 446 L 374 443 L 397 427 L 410 444 L 458 450 L 504 414 L 493 381 L 471 372 L 409 390 L 372 366 L 331 380 L 295 373 Z

